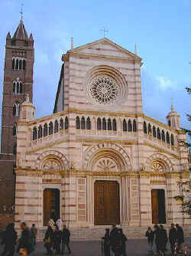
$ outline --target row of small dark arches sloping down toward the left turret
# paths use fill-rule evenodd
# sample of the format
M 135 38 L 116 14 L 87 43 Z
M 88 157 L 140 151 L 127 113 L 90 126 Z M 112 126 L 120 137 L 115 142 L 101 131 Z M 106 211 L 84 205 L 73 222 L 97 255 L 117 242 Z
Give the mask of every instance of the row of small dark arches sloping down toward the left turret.
M 33 140 L 40 139 L 42 136 L 51 135 L 53 133 L 58 133 L 59 130 L 68 130 L 69 127 L 69 120 L 68 117 L 65 117 L 65 120 L 63 122 L 63 119 L 60 119 L 60 122 L 57 120 L 54 121 L 54 123 L 51 121 L 48 125 L 47 123 L 44 123 L 44 126 L 34 126 L 33 128 Z

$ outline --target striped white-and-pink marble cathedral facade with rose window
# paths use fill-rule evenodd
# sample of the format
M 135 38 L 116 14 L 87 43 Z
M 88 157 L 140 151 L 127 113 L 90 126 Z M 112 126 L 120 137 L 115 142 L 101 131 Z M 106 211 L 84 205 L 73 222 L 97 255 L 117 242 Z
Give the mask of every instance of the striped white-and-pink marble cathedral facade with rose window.
M 143 113 L 141 57 L 103 38 L 62 61 L 53 114 L 21 104 L 15 222 L 189 226 L 174 199 L 189 180 L 186 134 L 173 106 L 167 124 Z

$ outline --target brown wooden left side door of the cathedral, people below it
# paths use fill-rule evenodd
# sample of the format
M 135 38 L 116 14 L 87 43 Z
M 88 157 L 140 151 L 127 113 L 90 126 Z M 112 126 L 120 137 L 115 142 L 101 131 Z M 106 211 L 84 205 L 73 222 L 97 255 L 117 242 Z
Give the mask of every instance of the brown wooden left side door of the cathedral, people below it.
M 53 218 L 60 218 L 60 190 L 44 189 L 44 225 Z

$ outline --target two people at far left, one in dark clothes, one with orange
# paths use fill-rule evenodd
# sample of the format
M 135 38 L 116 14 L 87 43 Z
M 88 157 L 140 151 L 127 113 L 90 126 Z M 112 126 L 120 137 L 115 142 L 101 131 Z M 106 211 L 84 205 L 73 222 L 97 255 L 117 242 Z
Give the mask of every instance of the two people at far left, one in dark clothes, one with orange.
M 30 228 L 25 222 L 21 223 L 21 238 L 18 239 L 18 234 L 15 231 L 15 224 L 11 223 L 6 227 L 5 233 L 2 235 L 2 245 L 4 249 L 2 256 L 13 256 L 15 254 L 15 245 L 17 245 L 16 251 L 22 256 L 27 256 L 35 249 L 36 245 L 37 228 L 33 224 Z

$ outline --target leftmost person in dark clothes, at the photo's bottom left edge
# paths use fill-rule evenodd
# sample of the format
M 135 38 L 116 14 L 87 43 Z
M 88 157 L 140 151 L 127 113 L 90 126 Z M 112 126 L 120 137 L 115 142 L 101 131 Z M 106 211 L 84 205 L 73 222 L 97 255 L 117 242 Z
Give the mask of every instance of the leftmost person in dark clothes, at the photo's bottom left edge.
M 7 226 L 4 237 L 2 239 L 2 245 L 5 245 L 2 251 L 2 256 L 13 256 L 15 254 L 15 245 L 17 243 L 18 235 L 15 231 L 14 223 Z

